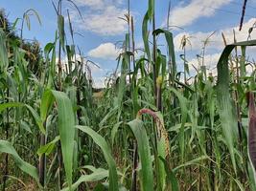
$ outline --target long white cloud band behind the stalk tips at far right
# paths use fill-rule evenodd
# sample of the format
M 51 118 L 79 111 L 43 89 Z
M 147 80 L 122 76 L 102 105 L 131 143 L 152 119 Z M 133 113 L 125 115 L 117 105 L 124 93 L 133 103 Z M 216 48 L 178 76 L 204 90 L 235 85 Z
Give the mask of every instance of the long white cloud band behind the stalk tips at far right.
M 220 52 L 224 48 L 221 32 L 223 32 L 227 44 L 231 44 L 234 42 L 233 30 L 236 33 L 237 41 L 247 40 L 248 30 L 250 27 L 254 25 L 255 21 L 256 18 L 251 18 L 247 22 L 244 22 L 243 30 L 241 32 L 239 32 L 238 26 L 214 32 L 214 34 L 209 39 L 209 43 L 207 44 L 206 50 L 215 50 Z M 175 50 L 181 51 L 180 42 L 182 36 L 186 35 L 187 37 L 189 36 L 189 40 L 191 42 L 191 47 L 190 45 L 188 45 L 187 50 L 200 51 L 201 48 L 203 47 L 203 41 L 212 33 L 213 32 L 180 32 L 177 35 L 175 35 Z M 251 32 L 251 39 L 256 39 L 256 32 Z

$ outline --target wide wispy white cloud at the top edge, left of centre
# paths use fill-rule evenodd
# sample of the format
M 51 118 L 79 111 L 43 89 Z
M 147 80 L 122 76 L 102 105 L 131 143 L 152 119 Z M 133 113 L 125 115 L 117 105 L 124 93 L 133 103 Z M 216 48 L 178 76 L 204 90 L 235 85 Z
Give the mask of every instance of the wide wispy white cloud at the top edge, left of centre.
M 100 35 L 117 35 L 127 31 L 127 22 L 120 19 L 128 12 L 120 8 L 123 0 L 76 0 L 82 8 L 82 18 L 78 11 L 71 11 L 72 21 L 82 31 Z M 83 9 L 85 8 L 85 9 Z

